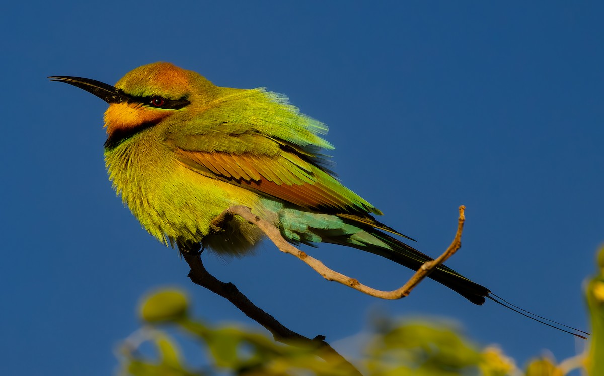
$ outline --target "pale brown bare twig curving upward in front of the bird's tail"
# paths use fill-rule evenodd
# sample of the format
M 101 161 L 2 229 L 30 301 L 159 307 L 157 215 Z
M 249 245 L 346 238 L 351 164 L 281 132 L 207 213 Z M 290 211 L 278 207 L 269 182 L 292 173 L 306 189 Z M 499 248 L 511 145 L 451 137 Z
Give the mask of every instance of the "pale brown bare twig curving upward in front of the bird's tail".
M 406 284 L 402 287 L 397 288 L 393 291 L 381 291 L 376 290 L 374 288 L 368 287 L 366 285 L 361 284 L 358 280 L 354 278 L 350 278 L 345 276 L 344 274 L 338 273 L 328 267 L 326 267 L 323 262 L 309 256 L 304 251 L 299 250 L 294 247 L 291 243 L 286 241 L 283 236 L 281 236 L 281 232 L 277 227 L 265 221 L 265 219 L 260 218 L 257 215 L 254 215 L 248 207 L 245 206 L 233 206 L 223 212 L 218 218 L 216 218 L 216 222 L 222 221 L 227 216 L 238 215 L 248 221 L 249 223 L 256 225 L 261 229 L 272 242 L 277 245 L 279 250 L 293 254 L 297 258 L 306 262 L 313 270 L 317 273 L 321 274 L 327 280 L 333 280 L 335 282 L 339 282 L 342 285 L 346 285 L 354 288 L 355 290 L 361 291 L 361 293 L 365 293 L 370 296 L 379 297 L 381 299 L 402 299 L 403 297 L 408 296 L 411 293 L 411 290 L 415 288 L 425 277 L 427 277 L 432 271 L 439 267 L 439 265 L 443 264 L 448 258 L 450 258 L 460 247 L 461 247 L 461 233 L 463 232 L 463 223 L 465 221 L 464 210 L 466 207 L 463 205 L 459 207 L 459 220 L 457 224 L 457 233 L 455 233 L 455 238 L 453 239 L 449 248 L 439 256 L 439 258 L 425 262 L 419 270 L 409 279 Z

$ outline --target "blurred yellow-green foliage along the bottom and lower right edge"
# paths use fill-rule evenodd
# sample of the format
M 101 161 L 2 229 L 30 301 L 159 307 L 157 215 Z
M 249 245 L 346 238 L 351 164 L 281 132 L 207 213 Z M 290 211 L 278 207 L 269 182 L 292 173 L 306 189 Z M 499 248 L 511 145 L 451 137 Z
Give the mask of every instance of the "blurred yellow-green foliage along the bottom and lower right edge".
M 593 336 L 588 354 L 556 363 L 534 358 L 524 371 L 497 346 L 472 343 L 450 325 L 419 320 L 380 318 L 370 337 L 359 344 L 362 357 L 353 361 L 365 376 L 564 376 L 584 369 L 590 376 L 604 375 L 604 248 L 599 274 L 588 281 L 586 297 Z M 120 348 L 121 373 L 132 376 L 345 376 L 338 361 L 325 360 L 316 348 L 288 346 L 264 334 L 237 326 L 215 326 L 194 318 L 188 299 L 178 290 L 162 290 L 141 304 L 144 327 Z M 187 365 L 176 332 L 199 346 L 201 368 Z M 149 342 L 155 355 L 140 351 Z M 321 355 L 322 357 L 320 357 Z

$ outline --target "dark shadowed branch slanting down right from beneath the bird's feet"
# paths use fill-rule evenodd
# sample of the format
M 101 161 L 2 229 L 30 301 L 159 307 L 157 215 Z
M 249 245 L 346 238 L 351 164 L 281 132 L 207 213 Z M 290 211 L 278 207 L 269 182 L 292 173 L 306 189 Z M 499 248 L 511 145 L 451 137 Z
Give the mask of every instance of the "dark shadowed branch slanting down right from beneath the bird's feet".
M 222 282 L 208 273 L 201 261 L 200 254 L 184 249 L 181 249 L 181 253 L 191 268 L 188 277 L 194 284 L 205 287 L 233 303 L 233 305 L 239 308 L 246 316 L 268 329 L 276 341 L 293 346 L 316 348 L 316 355 L 318 357 L 328 363 L 335 363 L 335 365 L 339 369 L 342 369 L 345 374 L 362 376 L 361 372 L 359 372 L 352 363 L 347 361 L 342 355 L 335 351 L 329 343 L 324 341 L 325 337 L 323 335 L 317 335 L 315 339 L 309 339 L 304 337 L 304 335 L 286 328 L 286 326 L 283 326 L 277 319 L 263 311 L 259 306 L 252 303 L 245 295 L 240 293 L 235 285 Z

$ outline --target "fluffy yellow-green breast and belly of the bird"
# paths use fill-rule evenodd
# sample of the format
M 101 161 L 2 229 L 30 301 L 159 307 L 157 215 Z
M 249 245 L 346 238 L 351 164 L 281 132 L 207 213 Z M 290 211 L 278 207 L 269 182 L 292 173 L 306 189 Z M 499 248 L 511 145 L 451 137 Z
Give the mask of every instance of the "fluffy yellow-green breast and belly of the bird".
M 149 233 L 165 244 L 202 241 L 211 232 L 213 219 L 231 206 L 265 212 L 256 193 L 191 170 L 159 139 L 129 140 L 115 149 L 106 149 L 105 160 L 109 178 L 124 204 Z M 234 221 L 230 226 L 236 227 L 225 229 L 230 239 L 212 236 L 216 248 L 242 253 L 261 237 L 245 221 Z

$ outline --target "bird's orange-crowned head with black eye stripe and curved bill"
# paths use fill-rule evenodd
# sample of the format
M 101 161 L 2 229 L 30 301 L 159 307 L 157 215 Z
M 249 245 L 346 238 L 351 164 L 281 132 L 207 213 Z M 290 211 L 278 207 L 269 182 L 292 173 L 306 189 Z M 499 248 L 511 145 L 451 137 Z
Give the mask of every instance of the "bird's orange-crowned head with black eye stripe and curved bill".
M 164 62 L 140 66 L 115 86 L 83 77 L 49 78 L 70 83 L 109 103 L 104 114 L 108 139 L 115 134 L 156 125 L 165 118 L 187 112 L 190 107 L 203 107 L 217 89 L 200 74 Z

